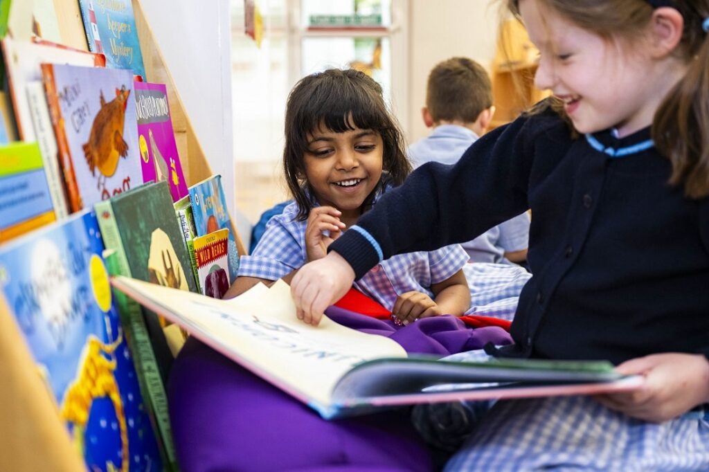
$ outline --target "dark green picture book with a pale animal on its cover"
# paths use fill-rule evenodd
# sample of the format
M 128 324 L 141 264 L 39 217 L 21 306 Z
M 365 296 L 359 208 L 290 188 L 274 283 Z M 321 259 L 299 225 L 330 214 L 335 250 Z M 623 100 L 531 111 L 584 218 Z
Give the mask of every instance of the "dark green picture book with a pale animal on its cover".
M 96 203 L 96 216 L 111 274 L 131 276 L 150 283 L 197 291 L 189 254 L 174 215 L 166 181 L 143 184 Z M 165 383 L 172 367 L 173 349 L 165 324 L 148 310 L 123 296 L 118 309 L 126 318 L 128 342 L 135 355 L 140 383 L 157 424 L 167 463 L 175 463 L 172 429 L 167 411 Z M 184 339 L 179 340 L 181 343 Z

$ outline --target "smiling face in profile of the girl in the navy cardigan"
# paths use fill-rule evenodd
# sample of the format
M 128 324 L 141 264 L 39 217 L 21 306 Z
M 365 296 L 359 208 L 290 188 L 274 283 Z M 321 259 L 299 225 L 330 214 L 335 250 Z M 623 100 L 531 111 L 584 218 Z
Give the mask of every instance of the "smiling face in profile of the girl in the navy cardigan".
M 576 26 L 538 0 L 520 0 L 532 43 L 540 50 L 535 85 L 550 89 L 580 133 L 615 127 L 620 136 L 652 123 L 664 77 L 647 40 L 603 38 Z M 623 34 L 623 32 L 619 32 Z

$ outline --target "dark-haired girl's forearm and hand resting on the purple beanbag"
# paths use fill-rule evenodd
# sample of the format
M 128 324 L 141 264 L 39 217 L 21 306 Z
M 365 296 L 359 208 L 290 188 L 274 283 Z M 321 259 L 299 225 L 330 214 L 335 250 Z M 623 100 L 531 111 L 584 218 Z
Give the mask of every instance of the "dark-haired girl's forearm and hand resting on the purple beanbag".
M 418 318 L 438 315 L 460 316 L 470 307 L 470 289 L 463 269 L 445 281 L 431 285 L 433 300 L 423 292 L 411 291 L 396 299 L 391 313 L 408 325 Z

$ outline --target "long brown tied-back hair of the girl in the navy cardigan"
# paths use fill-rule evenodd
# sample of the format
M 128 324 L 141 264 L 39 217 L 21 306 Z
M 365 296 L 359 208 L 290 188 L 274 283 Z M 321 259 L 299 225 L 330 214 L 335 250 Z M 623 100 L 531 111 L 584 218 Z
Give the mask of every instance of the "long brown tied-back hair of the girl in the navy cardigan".
M 653 11 L 646 0 L 537 1 L 603 38 L 637 39 Z M 506 3 L 519 18 L 519 0 Z M 689 198 L 703 198 L 709 196 L 709 33 L 702 23 L 709 18 L 709 0 L 671 4 L 684 18 L 675 54 L 686 60 L 688 71 L 655 111 L 652 139 L 672 164 L 670 184 L 682 185 Z

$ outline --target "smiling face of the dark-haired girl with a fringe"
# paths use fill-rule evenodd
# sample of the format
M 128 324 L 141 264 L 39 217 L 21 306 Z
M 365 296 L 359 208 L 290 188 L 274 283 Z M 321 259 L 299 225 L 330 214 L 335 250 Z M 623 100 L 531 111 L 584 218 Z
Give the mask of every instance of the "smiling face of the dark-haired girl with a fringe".
M 334 133 L 320 127 L 308 135 L 303 156 L 306 179 L 320 205 L 340 210 L 340 219 L 349 226 L 379 184 L 383 155 L 381 135 L 373 130 Z

